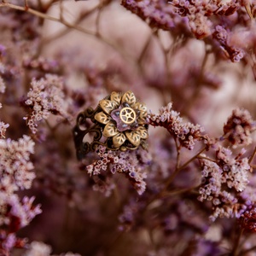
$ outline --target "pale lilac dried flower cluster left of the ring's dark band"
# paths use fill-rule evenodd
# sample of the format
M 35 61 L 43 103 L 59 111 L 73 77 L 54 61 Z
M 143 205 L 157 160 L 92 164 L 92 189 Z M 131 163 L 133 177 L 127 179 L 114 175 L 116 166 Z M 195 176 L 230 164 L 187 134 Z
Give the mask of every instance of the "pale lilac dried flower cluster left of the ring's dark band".
M 24 119 L 32 133 L 38 131 L 38 122 L 48 119 L 50 114 L 59 115 L 62 119 L 69 118 L 60 77 L 46 74 L 43 79 L 32 79 L 31 85 L 25 101 L 29 114 Z

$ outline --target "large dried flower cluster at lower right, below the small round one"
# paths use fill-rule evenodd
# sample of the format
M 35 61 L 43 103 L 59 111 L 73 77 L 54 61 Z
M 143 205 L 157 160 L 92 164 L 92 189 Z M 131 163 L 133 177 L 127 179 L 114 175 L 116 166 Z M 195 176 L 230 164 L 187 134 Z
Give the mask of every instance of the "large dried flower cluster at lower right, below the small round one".
M 241 200 L 241 192 L 249 183 L 250 165 L 247 158 L 231 157 L 231 151 L 219 147 L 216 160 L 201 160 L 202 184 L 199 201 L 212 201 L 213 213 L 210 219 L 218 217 L 240 218 L 247 208 Z

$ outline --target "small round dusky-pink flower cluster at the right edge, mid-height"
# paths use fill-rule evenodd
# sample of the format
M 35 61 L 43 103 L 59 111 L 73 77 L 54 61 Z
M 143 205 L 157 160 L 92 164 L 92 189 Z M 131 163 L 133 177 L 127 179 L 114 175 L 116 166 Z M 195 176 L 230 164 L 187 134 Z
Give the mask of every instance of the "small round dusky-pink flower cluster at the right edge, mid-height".
M 238 145 L 252 143 L 251 134 L 256 129 L 256 121 L 243 108 L 236 108 L 224 125 L 224 137 L 236 148 Z

